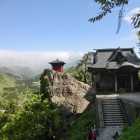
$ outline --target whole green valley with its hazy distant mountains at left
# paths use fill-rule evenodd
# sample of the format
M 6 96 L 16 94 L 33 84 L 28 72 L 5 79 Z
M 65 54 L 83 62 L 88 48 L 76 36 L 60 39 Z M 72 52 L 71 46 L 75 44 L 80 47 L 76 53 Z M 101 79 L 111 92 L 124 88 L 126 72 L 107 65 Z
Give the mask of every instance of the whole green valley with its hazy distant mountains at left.
M 25 67 L 19 72 L 7 67 L 0 68 L 0 110 L 4 110 L 13 100 L 21 104 L 30 98 L 30 93 L 39 92 L 40 74 Z

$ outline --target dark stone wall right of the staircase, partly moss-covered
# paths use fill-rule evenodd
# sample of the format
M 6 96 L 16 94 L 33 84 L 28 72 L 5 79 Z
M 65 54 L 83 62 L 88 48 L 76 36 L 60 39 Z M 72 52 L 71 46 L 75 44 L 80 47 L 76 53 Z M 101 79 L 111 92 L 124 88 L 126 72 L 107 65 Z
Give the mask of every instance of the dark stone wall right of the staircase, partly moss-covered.
M 126 115 L 127 124 L 131 126 L 133 123 L 135 123 L 136 118 L 140 116 L 140 106 L 124 98 L 121 98 L 121 103 Z

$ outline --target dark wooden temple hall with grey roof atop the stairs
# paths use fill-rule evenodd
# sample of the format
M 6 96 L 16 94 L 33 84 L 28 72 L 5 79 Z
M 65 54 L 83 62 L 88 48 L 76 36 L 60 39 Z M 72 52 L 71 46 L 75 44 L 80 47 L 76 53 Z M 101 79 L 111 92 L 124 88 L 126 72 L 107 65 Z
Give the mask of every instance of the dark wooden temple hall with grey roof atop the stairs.
M 140 59 L 133 48 L 96 49 L 93 65 L 88 67 L 95 75 L 96 90 L 115 92 L 140 91 L 139 70 Z

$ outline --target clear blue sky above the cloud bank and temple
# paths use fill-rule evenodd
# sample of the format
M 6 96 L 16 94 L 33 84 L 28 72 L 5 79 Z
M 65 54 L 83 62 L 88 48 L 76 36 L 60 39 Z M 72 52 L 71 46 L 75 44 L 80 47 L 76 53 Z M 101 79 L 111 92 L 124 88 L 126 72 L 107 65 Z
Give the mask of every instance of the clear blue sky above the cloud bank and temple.
M 135 47 L 137 52 L 137 30 L 133 29 L 129 17 L 140 9 L 140 1 L 129 0 L 124 7 L 124 19 L 118 34 L 120 8 L 94 24 L 88 22 L 100 12 L 99 8 L 100 5 L 93 0 L 1 0 L 1 61 L 7 57 L 14 59 L 17 54 L 20 54 L 18 59 L 23 59 L 28 53 L 32 59 L 41 53 L 49 54 L 50 59 L 43 57 L 49 61 L 63 52 L 65 55 L 60 58 L 70 63 L 71 58 L 75 57 L 74 62 L 93 49 L 119 46 Z M 6 63 L 8 65 L 8 61 Z

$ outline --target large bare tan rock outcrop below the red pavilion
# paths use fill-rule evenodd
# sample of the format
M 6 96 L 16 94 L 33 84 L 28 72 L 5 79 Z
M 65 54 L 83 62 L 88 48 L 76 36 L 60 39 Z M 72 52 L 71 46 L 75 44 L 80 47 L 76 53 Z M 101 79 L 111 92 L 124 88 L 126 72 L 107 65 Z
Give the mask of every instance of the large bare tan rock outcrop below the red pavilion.
M 92 87 L 84 84 L 70 75 L 46 69 L 48 85 L 52 102 L 56 103 L 65 115 L 81 114 L 95 95 Z

